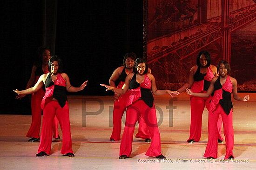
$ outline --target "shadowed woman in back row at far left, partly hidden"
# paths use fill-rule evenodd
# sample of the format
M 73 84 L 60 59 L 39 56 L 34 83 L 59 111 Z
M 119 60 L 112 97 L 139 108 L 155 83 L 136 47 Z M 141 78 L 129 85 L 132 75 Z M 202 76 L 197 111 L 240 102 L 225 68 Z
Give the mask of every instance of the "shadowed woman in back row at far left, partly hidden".
M 30 75 L 29 81 L 27 82 L 26 89 L 33 87 L 42 74 L 48 73 L 48 62 L 51 57 L 50 49 L 45 46 L 40 46 L 37 52 L 39 56 L 38 62 L 35 62 L 32 67 L 31 75 Z M 29 142 L 40 141 L 40 126 L 41 126 L 41 113 L 42 113 L 40 104 L 44 94 L 45 94 L 45 90 L 43 88 L 40 88 L 37 92 L 34 92 L 31 95 L 32 122 L 26 135 L 26 137 L 31 138 L 28 140 Z M 18 95 L 15 98 L 21 99 L 24 96 L 25 94 Z M 53 134 L 54 139 L 59 140 L 60 136 L 58 132 L 58 120 L 56 117 L 54 117 L 54 121 L 53 121 L 53 133 L 54 133 Z

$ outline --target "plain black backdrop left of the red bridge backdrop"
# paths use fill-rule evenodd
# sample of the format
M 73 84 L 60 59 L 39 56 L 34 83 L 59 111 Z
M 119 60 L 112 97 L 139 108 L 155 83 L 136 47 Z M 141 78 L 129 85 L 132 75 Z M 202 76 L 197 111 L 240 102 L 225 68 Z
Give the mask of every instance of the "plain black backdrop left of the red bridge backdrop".
M 42 45 L 43 0 L 1 1 L 1 114 L 30 113 L 24 89 L 37 48 Z M 55 55 L 62 58 L 73 86 L 88 86 L 71 95 L 112 95 L 108 83 L 125 53 L 142 57 L 142 0 L 58 0 Z

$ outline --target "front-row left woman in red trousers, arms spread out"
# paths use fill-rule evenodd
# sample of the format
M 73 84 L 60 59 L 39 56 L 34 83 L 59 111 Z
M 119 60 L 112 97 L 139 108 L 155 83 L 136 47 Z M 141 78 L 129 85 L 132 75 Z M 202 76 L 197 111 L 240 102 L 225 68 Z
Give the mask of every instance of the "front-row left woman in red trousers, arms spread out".
M 53 127 L 52 122 L 57 116 L 63 135 L 61 153 L 68 157 L 74 157 L 69 122 L 69 108 L 67 103 L 66 90 L 68 92 L 78 92 L 85 88 L 87 82 L 83 82 L 80 87 L 71 86 L 67 74 L 62 73 L 61 59 L 57 56 L 51 57 L 48 63 L 49 73 L 39 77 L 34 87 L 19 91 L 13 90 L 18 95 L 31 94 L 45 86 L 46 93 L 41 102 L 43 110 L 43 123 L 41 131 L 40 145 L 37 157 L 49 155 L 51 151 Z

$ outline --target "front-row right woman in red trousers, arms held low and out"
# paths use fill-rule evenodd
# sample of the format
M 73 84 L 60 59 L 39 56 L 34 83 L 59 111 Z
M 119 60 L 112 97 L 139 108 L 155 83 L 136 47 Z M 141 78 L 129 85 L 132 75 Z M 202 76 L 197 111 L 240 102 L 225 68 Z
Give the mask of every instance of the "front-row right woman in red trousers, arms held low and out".
M 237 94 L 236 79 L 229 76 L 229 63 L 222 60 L 217 65 L 217 70 L 220 74 L 214 77 L 206 93 L 194 93 L 187 89 L 187 94 L 197 97 L 208 97 L 214 93 L 210 103 L 209 120 L 208 120 L 208 143 L 204 153 L 204 157 L 214 159 L 218 157 L 218 142 L 217 142 L 217 122 L 221 115 L 224 127 L 226 155 L 225 159 L 234 159 L 234 129 L 233 129 L 233 105 L 231 102 L 231 93 L 237 101 L 249 101 L 249 95 L 243 98 Z

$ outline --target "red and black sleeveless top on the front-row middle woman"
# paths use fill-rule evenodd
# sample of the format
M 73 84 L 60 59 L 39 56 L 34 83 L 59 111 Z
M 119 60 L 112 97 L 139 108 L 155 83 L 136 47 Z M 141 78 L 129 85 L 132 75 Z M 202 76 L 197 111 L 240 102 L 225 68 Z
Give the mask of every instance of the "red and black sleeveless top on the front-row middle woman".
M 148 75 L 145 75 L 144 81 L 140 84 L 136 82 L 136 74 L 132 77 L 129 84 L 127 106 L 137 100 L 143 100 L 149 107 L 153 107 L 154 97 L 151 93 L 151 81 Z

